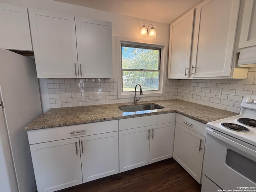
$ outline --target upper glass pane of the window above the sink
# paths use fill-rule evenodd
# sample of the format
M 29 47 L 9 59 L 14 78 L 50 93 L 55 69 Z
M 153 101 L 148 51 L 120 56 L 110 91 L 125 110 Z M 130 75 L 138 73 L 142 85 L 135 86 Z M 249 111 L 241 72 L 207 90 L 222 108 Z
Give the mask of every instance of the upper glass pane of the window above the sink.
M 160 50 L 122 46 L 122 69 L 159 70 Z

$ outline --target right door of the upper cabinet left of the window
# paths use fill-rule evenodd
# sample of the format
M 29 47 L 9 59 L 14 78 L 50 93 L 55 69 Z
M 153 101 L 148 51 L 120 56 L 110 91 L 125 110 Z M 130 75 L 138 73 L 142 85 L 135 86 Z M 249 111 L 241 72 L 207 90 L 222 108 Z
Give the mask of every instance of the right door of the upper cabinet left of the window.
M 111 22 L 75 19 L 80 78 L 111 78 Z

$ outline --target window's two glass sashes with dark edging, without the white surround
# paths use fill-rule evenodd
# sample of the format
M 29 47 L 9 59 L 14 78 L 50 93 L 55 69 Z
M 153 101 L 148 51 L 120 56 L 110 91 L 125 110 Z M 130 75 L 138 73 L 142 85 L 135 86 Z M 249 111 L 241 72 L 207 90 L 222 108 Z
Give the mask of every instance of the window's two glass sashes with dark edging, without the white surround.
M 159 90 L 160 48 L 121 44 L 122 92 L 134 91 L 139 83 L 143 91 Z

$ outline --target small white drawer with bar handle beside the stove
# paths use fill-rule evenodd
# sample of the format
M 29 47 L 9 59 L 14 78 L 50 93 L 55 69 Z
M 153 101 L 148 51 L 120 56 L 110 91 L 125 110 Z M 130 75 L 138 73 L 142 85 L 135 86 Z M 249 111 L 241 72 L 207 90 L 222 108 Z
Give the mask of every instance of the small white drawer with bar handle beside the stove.
M 206 136 L 206 124 L 204 123 L 201 123 L 197 120 L 191 119 L 178 113 L 176 115 L 176 123 L 179 123 L 202 136 Z

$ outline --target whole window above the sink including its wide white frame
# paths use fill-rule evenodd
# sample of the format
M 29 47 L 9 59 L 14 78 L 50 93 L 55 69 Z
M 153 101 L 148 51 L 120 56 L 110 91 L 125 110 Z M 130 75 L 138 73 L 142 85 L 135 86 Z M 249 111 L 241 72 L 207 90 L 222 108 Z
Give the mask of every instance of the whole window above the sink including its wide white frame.
M 167 44 L 144 41 L 117 37 L 118 98 L 134 97 L 138 83 L 143 90 L 140 97 L 164 96 Z

